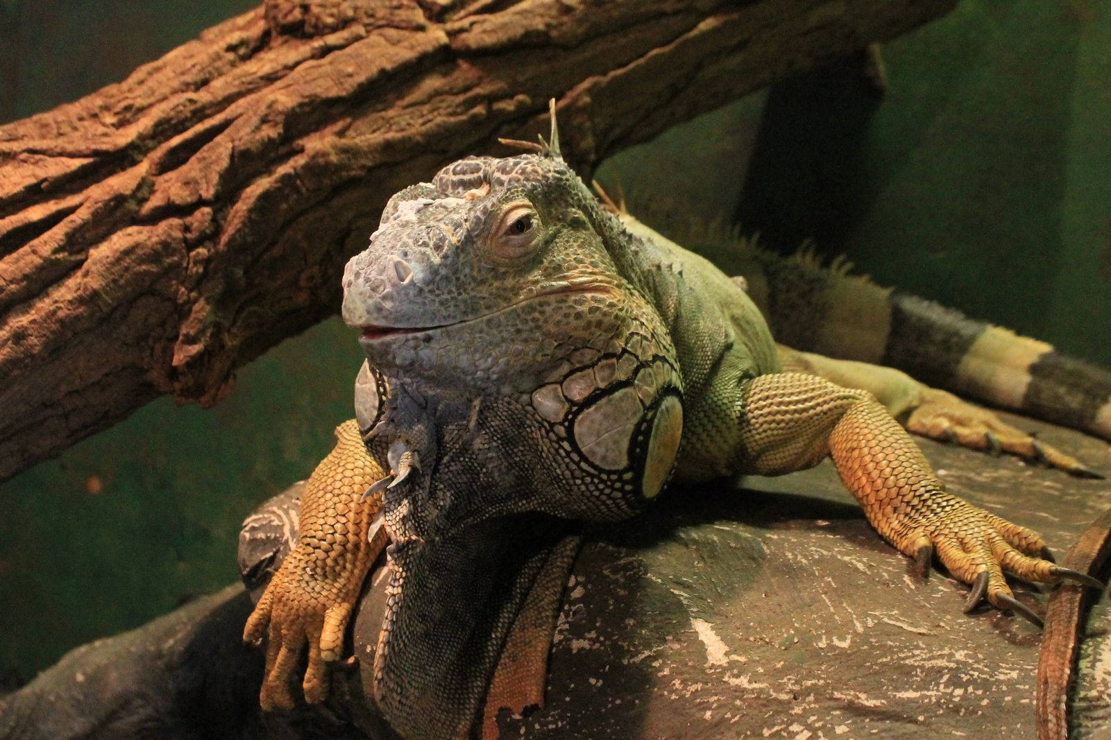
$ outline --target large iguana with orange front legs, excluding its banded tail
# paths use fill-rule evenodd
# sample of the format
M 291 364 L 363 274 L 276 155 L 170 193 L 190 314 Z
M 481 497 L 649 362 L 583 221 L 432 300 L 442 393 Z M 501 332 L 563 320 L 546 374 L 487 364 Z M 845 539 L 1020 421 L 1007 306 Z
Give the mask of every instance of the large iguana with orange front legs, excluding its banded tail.
M 774 282 L 749 288 L 767 299 Z M 903 318 L 919 331 L 899 341 L 959 376 L 983 324 L 965 337 L 925 314 Z M 269 641 L 266 709 L 293 703 L 306 646 L 304 697 L 326 697 L 327 663 L 389 542 L 373 694 L 404 737 L 466 736 L 536 579 L 527 568 L 491 582 L 504 550 L 521 547 L 513 528 L 533 521 L 520 517 L 631 518 L 672 477 L 780 474 L 832 457 L 884 539 L 973 584 L 970 608 L 985 596 L 1037 619 L 1004 573 L 1091 580 L 1047 560 L 1035 532 L 945 491 L 891 412 L 1082 472 L 1075 460 L 898 371 L 778 350 L 733 280 L 592 197 L 559 156 L 554 124 L 539 151 L 463 159 L 393 196 L 347 266 L 343 319 L 369 360 L 357 420 L 310 478 L 300 543 L 244 631 Z M 947 331 L 967 341 L 947 344 Z M 1022 373 L 1031 348 L 1048 346 L 992 337 L 965 373 L 991 400 L 1045 384 Z M 1008 368 L 1008 348 L 1025 366 Z M 785 371 L 781 352 L 810 372 Z M 1103 401 L 1111 390 L 1078 382 Z M 1100 404 L 1089 407 L 1095 419 Z

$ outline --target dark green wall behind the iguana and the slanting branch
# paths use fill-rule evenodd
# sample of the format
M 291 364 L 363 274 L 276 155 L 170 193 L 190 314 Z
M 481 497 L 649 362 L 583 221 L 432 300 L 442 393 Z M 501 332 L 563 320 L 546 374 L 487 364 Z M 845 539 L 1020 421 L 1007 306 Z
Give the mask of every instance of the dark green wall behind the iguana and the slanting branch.
M 253 4 L 0 0 L 0 121 L 119 80 Z M 601 177 L 741 217 L 784 250 L 814 237 L 881 283 L 1111 364 L 1111 3 L 964 0 L 885 59 L 882 101 L 834 67 Z M 0 484 L 0 671 L 30 678 L 232 581 L 240 521 L 328 451 L 359 361 L 326 321 L 244 368 L 214 409 L 161 399 Z

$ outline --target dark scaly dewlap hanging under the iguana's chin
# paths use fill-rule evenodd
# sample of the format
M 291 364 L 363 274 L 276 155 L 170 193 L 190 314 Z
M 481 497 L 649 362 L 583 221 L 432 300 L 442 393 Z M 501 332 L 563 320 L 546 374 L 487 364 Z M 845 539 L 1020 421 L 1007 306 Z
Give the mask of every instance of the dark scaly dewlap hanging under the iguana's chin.
M 389 380 L 371 449 L 421 468 L 384 492 L 390 581 L 374 698 L 403 737 L 466 737 L 509 628 L 569 522 L 536 513 L 542 430 L 512 399 Z M 550 533 L 550 536 L 549 536 Z

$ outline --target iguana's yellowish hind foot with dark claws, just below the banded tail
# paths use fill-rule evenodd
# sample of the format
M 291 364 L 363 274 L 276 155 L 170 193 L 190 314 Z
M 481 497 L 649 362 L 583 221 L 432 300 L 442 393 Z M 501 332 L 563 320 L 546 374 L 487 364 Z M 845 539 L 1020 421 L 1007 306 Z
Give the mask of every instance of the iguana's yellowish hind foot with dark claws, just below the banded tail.
M 923 389 L 921 403 L 907 420 L 907 429 L 991 454 L 1005 452 L 1030 462 L 1044 462 L 1073 476 L 1103 477 L 1052 444 L 1002 421 L 994 412 L 935 388 Z

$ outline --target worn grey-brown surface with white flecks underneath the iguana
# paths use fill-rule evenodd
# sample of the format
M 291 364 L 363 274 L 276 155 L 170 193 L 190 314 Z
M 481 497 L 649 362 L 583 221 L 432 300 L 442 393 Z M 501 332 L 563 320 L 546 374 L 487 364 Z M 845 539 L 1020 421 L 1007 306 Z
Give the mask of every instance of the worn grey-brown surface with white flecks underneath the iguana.
M 1009 418 L 1111 472 L 1105 442 Z M 951 490 L 1038 529 L 1058 553 L 1111 506 L 1105 481 L 922 447 Z M 1035 628 L 987 607 L 962 614 L 968 589 L 943 573 L 920 581 L 829 464 L 739 483 L 673 488 L 648 516 L 587 531 L 563 594 L 547 706 L 503 711 L 503 737 L 1034 737 Z M 256 598 L 296 532 L 299 493 L 291 487 L 246 522 L 240 566 Z M 326 708 L 259 717 L 261 659 L 239 647 L 249 602 L 232 588 L 71 652 L 0 699 L 0 738 L 119 737 L 136 727 L 390 737 L 364 697 L 383 574 L 380 563 L 349 634 L 360 669 L 337 671 Z M 1015 590 L 1043 600 L 1034 587 Z M 1109 626 L 1101 601 L 1081 650 L 1077 738 L 1111 732 Z

